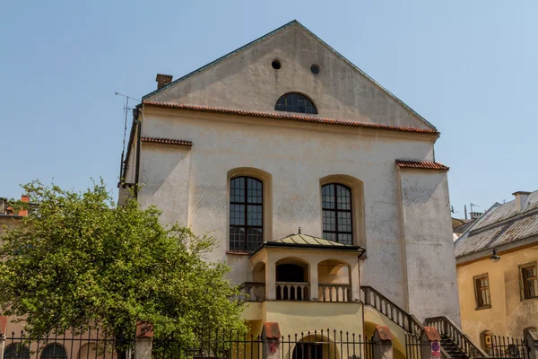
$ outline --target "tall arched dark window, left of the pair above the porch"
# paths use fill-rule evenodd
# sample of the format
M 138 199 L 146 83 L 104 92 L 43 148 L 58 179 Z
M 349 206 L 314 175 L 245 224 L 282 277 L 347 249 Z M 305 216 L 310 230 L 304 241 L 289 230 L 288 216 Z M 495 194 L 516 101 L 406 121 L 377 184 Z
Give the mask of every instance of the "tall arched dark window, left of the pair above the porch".
M 230 250 L 255 250 L 263 241 L 264 184 L 252 177 L 230 180 Z

